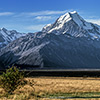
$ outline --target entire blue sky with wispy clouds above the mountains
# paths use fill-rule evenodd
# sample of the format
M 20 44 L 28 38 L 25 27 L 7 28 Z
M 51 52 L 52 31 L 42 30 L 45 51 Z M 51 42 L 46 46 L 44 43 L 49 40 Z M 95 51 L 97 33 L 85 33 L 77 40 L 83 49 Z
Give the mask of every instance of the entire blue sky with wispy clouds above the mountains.
M 68 11 L 100 25 L 100 0 L 0 0 L 0 28 L 36 32 Z

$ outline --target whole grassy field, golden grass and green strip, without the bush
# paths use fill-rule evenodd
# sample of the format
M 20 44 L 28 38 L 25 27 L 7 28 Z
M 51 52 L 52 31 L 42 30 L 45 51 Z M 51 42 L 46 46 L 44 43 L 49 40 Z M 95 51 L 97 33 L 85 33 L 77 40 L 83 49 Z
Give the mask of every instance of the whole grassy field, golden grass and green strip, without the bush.
M 100 78 L 84 77 L 33 77 L 25 78 L 34 83 L 34 89 L 26 84 L 13 94 L 5 94 L 0 88 L 0 100 L 100 100 Z M 73 99 L 72 99 L 73 100 Z

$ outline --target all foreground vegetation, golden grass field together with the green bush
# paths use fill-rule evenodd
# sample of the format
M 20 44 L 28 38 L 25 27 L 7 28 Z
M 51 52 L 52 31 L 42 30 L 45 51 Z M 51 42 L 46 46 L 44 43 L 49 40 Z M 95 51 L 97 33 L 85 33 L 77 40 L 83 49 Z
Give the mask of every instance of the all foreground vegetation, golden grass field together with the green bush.
M 26 78 L 16 67 L 11 67 L 0 76 L 0 100 L 75 100 L 75 98 L 100 100 L 100 78 Z

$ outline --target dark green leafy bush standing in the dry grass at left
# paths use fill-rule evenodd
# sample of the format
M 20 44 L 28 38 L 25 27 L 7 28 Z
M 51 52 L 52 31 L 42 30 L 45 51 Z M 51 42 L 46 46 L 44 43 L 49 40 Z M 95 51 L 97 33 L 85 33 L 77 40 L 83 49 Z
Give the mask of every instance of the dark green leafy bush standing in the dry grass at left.
M 0 76 L 0 87 L 3 88 L 5 92 L 12 94 L 18 86 L 22 85 L 23 80 L 24 73 L 12 66 Z

